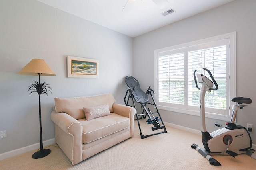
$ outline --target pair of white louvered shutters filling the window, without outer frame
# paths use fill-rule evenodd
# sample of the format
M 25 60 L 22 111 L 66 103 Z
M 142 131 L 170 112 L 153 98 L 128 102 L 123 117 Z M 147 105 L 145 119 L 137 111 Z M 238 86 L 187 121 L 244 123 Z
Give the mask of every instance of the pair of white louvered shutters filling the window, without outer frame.
M 203 48 L 202 48 L 203 47 Z M 227 102 L 227 40 L 194 45 L 158 54 L 158 102 L 162 106 L 198 110 L 200 90 L 195 86 L 193 72 L 212 72 L 219 88 L 206 93 L 206 111 L 226 114 Z M 198 83 L 201 87 L 201 84 Z M 216 112 L 216 111 L 215 111 Z

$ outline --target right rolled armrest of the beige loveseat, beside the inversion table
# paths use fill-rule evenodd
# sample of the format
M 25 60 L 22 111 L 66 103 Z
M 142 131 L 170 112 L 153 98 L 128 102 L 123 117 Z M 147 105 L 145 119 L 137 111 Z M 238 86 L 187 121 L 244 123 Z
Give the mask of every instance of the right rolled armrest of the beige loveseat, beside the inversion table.
M 130 119 L 130 136 L 132 137 L 134 134 L 134 115 L 136 113 L 136 109 L 131 106 L 114 103 L 113 113 L 116 113 L 124 117 L 128 117 Z

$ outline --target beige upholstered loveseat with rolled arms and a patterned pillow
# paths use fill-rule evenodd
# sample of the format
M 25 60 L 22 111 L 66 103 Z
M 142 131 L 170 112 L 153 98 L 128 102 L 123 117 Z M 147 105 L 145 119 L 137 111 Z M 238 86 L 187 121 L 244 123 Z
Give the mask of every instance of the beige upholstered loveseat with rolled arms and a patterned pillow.
M 54 100 L 55 141 L 73 165 L 133 136 L 136 110 L 116 104 L 110 93 Z

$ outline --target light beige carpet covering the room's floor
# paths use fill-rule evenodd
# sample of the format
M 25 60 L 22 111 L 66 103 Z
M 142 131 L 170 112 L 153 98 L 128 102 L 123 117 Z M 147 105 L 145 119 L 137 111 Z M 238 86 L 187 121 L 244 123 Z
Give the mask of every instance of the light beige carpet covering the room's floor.
M 152 125 L 140 120 L 142 133 L 148 135 Z M 208 160 L 191 148 L 193 143 L 202 147 L 202 137 L 166 126 L 168 133 L 145 139 L 140 138 L 138 123 L 134 121 L 134 137 L 104 150 L 76 165 L 62 152 L 57 144 L 47 146 L 51 153 L 33 159 L 30 151 L 0 161 L 0 170 L 255 170 L 256 160 L 241 154 L 238 157 L 214 155 L 222 166 L 210 165 Z M 46 147 L 45 147 L 46 148 Z

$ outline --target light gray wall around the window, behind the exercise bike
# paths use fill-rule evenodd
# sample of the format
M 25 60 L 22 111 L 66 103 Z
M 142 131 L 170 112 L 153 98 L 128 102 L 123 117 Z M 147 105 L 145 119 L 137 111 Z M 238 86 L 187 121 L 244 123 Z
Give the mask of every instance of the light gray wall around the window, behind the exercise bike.
M 208 37 L 237 31 L 237 96 L 252 99 L 252 104 L 238 112 L 237 124 L 254 125 L 252 141 L 256 143 L 256 1 L 236 0 L 178 21 L 171 25 L 151 31 L 134 38 L 133 75 L 143 90 L 149 85 L 154 88 L 154 50 L 179 45 Z M 171 15 L 171 14 L 170 14 Z M 171 16 L 170 16 L 171 17 Z M 164 121 L 200 130 L 198 116 L 160 110 Z M 208 131 L 218 127 L 214 122 L 224 121 L 206 119 Z

